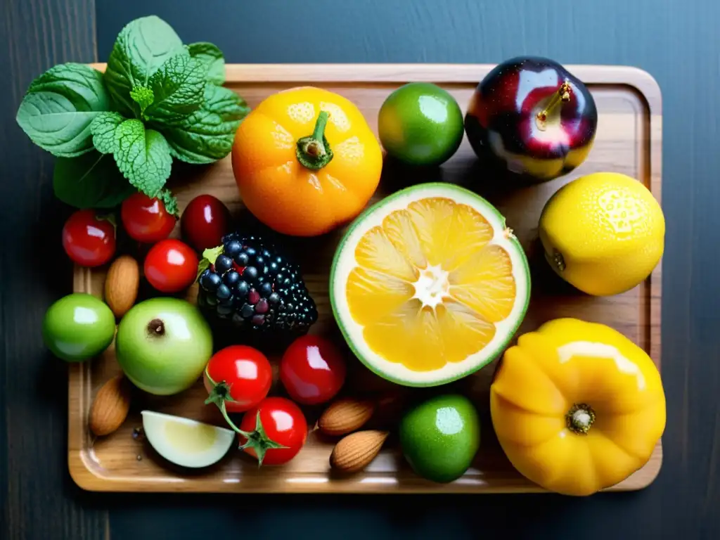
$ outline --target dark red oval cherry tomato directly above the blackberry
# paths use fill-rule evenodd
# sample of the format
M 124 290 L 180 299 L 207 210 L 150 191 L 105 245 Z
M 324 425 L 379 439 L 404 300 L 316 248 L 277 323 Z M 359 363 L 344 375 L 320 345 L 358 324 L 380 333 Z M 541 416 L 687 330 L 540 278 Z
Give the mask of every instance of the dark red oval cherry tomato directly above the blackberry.
M 230 230 L 230 211 L 212 195 L 198 195 L 180 217 L 182 237 L 197 251 L 220 246 Z

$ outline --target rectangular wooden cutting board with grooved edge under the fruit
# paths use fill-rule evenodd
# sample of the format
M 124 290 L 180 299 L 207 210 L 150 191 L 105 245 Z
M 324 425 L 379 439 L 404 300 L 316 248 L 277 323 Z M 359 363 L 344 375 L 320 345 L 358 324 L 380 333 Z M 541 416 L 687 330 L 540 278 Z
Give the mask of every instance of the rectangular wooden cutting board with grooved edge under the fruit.
M 103 69 L 104 65 L 96 68 Z M 490 65 L 230 65 L 227 86 L 243 96 L 251 107 L 269 94 L 292 86 L 313 85 L 336 91 L 355 102 L 377 132 L 377 113 L 390 92 L 408 81 L 429 81 L 451 92 L 464 111 L 477 82 Z M 572 174 L 536 186 L 513 186 L 511 179 L 496 171 L 483 170 L 463 141 L 458 152 L 439 171 L 408 173 L 386 166 L 374 201 L 402 186 L 424 181 L 449 181 L 473 189 L 495 204 L 507 218 L 531 262 L 533 292 L 520 333 L 558 317 L 577 317 L 605 323 L 644 348 L 660 367 L 660 265 L 646 282 L 615 297 L 589 297 L 562 283 L 552 274 L 538 249 L 537 223 L 549 197 L 568 181 L 595 171 L 616 171 L 642 181 L 660 200 L 662 111 L 660 88 L 644 71 L 621 66 L 568 66 L 585 81 L 598 107 L 595 146 L 588 160 Z M 243 204 L 235 187 L 230 158 L 213 166 L 174 164 L 171 187 L 180 210 L 196 195 L 214 194 L 236 217 Z M 308 289 L 318 305 L 320 318 L 312 333 L 338 340 L 328 300 L 330 259 L 342 231 L 323 238 L 287 238 L 287 248 L 300 258 Z M 174 235 L 179 235 L 176 228 Z M 135 252 L 135 256 L 143 254 Z M 74 290 L 102 298 L 107 268 L 76 268 Z M 147 287 L 145 287 L 147 288 Z M 197 289 L 186 297 L 194 302 Z M 146 441 L 132 436 L 142 425 L 140 410 L 158 410 L 223 426 L 217 408 L 203 405 L 202 382 L 171 397 L 135 392 L 130 415 L 120 430 L 94 438 L 87 428 L 89 408 L 99 387 L 120 372 L 112 346 L 102 356 L 70 366 L 68 464 L 73 479 L 87 490 L 97 491 L 185 491 L 185 492 L 534 492 L 541 488 L 521 477 L 498 445 L 488 412 L 488 390 L 495 363 L 447 389 L 472 397 L 482 419 L 482 444 L 473 466 L 464 477 L 450 484 L 435 484 L 416 476 L 403 462 L 397 442 L 389 439 L 370 466 L 351 477 L 330 473 L 328 457 L 334 441 L 318 432 L 310 433 L 306 446 L 292 462 L 263 467 L 231 449 L 219 463 L 199 471 L 180 469 L 158 456 Z M 397 387 L 396 387 L 397 388 Z M 392 385 L 370 374 L 359 361 L 351 360 L 346 390 L 382 392 Z M 282 392 L 279 387 L 274 392 Z M 411 390 L 423 392 L 423 390 Z M 310 426 L 320 410 L 306 409 Z M 387 410 L 392 421 L 395 412 Z M 660 471 L 662 445 L 658 442 L 649 462 L 631 477 L 609 490 L 638 490 L 649 485 Z

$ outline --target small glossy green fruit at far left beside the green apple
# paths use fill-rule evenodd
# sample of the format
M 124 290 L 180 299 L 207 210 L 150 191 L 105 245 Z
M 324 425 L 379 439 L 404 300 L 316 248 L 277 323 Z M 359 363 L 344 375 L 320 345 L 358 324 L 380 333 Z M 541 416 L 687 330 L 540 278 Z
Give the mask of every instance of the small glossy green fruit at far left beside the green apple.
M 115 336 L 115 316 L 107 305 L 76 292 L 48 307 L 42 319 L 42 340 L 55 356 L 81 362 L 102 353 Z

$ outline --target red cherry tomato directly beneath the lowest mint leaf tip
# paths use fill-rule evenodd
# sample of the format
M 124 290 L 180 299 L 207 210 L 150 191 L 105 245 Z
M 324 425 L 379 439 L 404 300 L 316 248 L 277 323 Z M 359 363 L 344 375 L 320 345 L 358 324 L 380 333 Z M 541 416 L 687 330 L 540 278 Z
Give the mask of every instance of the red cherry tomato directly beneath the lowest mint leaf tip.
M 168 213 L 160 199 L 135 193 L 122 202 L 122 226 L 133 240 L 156 243 L 168 238 L 175 228 L 175 216 Z

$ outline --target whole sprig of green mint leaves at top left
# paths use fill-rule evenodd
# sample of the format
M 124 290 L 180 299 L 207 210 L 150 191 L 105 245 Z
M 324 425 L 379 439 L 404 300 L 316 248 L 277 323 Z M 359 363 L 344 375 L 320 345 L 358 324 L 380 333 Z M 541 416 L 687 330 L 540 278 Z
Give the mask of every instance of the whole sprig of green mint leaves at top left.
M 220 86 L 224 81 L 215 45 L 183 45 L 159 17 L 140 17 L 120 31 L 104 73 L 65 63 L 35 79 L 17 123 L 61 158 L 53 177 L 58 199 L 110 207 L 135 189 L 161 196 L 173 158 L 213 163 L 228 156 L 250 109 Z M 113 161 L 117 174 L 108 174 Z M 174 198 L 163 203 L 176 212 Z

